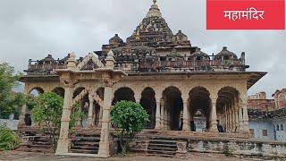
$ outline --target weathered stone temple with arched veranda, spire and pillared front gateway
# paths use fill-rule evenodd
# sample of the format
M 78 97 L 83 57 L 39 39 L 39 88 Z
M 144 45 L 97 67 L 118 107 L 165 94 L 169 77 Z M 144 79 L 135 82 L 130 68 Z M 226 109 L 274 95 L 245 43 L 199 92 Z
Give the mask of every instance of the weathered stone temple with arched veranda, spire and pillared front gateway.
M 26 94 L 54 91 L 64 97 L 58 155 L 112 155 L 116 141 L 109 135 L 109 112 L 121 100 L 139 102 L 150 114 L 134 151 L 169 157 L 191 151 L 268 154 L 262 149 L 270 143 L 249 140 L 247 109 L 248 89 L 266 72 L 247 72 L 245 53 L 230 50 L 209 55 L 194 47 L 181 30 L 172 32 L 155 0 L 126 41 L 115 34 L 84 57 L 29 60 L 21 81 Z M 76 141 L 68 133 L 74 103 L 87 115 L 75 128 Z M 27 115 L 23 106 L 19 130 L 37 133 L 37 124 L 24 122 Z M 272 146 L 285 155 L 284 145 Z

